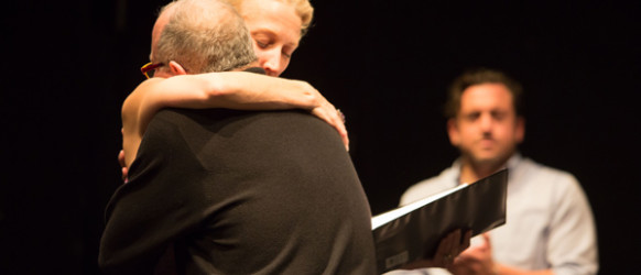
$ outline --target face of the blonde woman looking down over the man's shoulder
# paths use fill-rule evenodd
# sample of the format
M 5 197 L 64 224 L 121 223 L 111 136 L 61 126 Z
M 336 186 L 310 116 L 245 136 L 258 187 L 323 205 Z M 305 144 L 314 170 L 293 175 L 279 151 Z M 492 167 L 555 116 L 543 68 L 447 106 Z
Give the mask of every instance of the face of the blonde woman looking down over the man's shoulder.
M 301 18 L 293 7 L 274 0 L 245 0 L 241 15 L 260 66 L 269 76 L 280 76 L 298 47 Z

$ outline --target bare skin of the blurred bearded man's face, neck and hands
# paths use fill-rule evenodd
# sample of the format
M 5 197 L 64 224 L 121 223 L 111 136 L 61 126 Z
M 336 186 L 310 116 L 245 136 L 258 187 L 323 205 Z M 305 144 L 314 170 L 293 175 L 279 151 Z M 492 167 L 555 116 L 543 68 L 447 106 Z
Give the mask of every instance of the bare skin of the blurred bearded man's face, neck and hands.
M 525 122 L 517 116 L 512 94 L 502 84 L 480 84 L 463 91 L 457 116 L 447 122 L 450 143 L 461 152 L 460 183 L 474 183 L 504 166 L 525 134 Z M 453 274 L 545 275 L 552 270 L 523 271 L 492 260 L 490 235 L 454 261 Z

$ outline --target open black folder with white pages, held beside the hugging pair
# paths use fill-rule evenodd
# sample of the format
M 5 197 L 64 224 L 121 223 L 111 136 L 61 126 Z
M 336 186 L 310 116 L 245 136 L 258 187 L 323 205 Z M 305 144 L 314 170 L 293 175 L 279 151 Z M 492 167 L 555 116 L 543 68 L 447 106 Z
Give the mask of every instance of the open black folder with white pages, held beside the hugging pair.
M 507 190 L 508 170 L 502 169 L 373 217 L 379 273 L 431 258 L 456 229 L 471 230 L 474 237 L 504 224 Z

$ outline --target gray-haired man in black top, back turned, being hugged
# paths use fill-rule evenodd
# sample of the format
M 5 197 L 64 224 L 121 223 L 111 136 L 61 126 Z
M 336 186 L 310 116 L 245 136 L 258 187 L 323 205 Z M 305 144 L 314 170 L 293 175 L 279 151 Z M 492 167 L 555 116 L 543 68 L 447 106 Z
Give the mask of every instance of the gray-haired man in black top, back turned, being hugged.
M 239 20 L 216 0 L 169 4 L 152 34 L 157 81 L 251 66 Z M 164 109 L 133 152 L 106 210 L 107 274 L 376 273 L 351 160 L 308 112 Z

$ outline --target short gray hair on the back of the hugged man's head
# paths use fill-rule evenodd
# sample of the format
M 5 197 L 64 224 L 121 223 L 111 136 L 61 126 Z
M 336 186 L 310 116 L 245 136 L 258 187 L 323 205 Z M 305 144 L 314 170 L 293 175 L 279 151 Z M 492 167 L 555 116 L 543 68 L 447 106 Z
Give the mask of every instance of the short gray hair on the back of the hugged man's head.
M 219 0 L 177 0 L 163 29 L 154 63 L 181 64 L 189 74 L 226 72 L 257 59 L 242 18 Z

